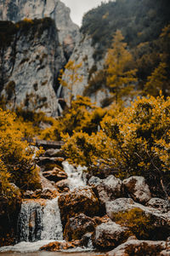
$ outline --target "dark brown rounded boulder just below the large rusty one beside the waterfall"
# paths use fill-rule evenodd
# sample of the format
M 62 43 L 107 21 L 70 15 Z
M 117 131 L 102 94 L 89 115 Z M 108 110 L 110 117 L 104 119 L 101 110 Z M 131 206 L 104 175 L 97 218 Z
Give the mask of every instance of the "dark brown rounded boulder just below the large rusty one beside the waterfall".
M 80 213 L 76 217 L 70 218 L 65 225 L 64 238 L 66 241 L 80 240 L 84 234 L 93 232 L 95 225 L 93 218 Z

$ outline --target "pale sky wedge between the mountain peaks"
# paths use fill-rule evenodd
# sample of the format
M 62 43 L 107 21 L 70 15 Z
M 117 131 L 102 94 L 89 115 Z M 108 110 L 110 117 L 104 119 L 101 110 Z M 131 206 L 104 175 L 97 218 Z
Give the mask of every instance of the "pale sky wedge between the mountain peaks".
M 71 20 L 78 26 L 82 24 L 82 16 L 88 12 L 88 10 L 93 9 L 100 5 L 101 2 L 108 2 L 105 0 L 61 0 L 66 6 L 71 9 Z

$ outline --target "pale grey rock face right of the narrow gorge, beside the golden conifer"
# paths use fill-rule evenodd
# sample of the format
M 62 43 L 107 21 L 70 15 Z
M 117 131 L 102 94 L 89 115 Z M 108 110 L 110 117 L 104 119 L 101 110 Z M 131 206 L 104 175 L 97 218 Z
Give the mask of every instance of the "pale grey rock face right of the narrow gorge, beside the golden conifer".
M 103 70 L 104 59 L 95 61 L 95 51 L 96 47 L 92 45 L 92 38 L 81 33 L 70 60 L 75 61 L 75 64 L 82 63 L 82 67 L 77 70 L 78 75 L 82 77 L 82 81 L 73 85 L 72 93 L 74 96 L 89 96 L 92 102 L 96 102 L 100 106 L 101 102 L 108 96 L 108 91 L 105 89 L 105 84 L 98 80 Z M 69 84 L 69 74 L 71 74 L 71 71 L 65 69 L 63 79 L 67 84 Z M 95 84 L 99 84 L 98 90 L 88 90 L 90 80 L 94 80 Z M 63 89 L 63 95 L 65 98 L 69 98 L 66 88 Z

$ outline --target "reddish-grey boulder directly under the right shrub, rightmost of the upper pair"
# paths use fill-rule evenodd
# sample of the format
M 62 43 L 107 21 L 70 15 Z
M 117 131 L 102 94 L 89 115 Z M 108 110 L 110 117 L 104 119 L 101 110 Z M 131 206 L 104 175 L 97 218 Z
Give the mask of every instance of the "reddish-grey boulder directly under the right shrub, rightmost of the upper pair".
M 150 188 L 145 182 L 144 177 L 128 177 L 123 180 L 123 184 L 127 189 L 128 195 L 130 195 L 134 201 L 138 201 L 139 203 L 146 203 L 147 201 L 150 201 Z

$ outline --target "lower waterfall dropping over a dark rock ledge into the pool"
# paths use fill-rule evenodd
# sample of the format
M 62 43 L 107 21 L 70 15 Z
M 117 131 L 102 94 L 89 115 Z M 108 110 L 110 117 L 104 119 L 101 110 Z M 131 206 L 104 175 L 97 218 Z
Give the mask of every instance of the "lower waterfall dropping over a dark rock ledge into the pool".
M 18 220 L 19 241 L 62 240 L 62 224 L 58 206 L 58 197 L 39 202 L 25 201 Z

